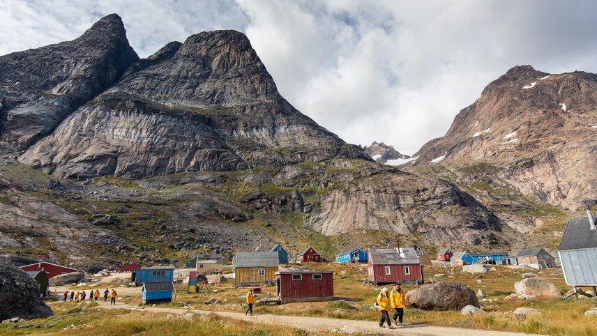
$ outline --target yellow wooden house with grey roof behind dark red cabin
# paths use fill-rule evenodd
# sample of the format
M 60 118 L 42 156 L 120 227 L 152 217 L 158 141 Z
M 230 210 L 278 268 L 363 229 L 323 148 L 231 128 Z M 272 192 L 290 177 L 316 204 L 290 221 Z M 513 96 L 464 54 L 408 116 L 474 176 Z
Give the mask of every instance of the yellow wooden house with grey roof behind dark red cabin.
M 234 256 L 234 287 L 275 282 L 278 252 L 239 252 Z

